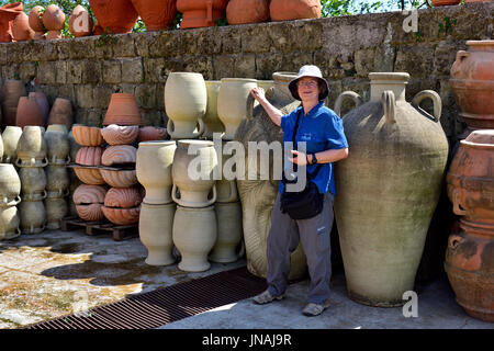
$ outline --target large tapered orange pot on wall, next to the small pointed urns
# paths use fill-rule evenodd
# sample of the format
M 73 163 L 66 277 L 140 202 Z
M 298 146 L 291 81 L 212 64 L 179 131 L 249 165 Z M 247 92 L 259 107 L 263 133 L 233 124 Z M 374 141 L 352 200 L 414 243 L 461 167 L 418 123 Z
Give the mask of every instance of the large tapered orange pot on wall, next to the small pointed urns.
M 98 24 L 109 33 L 131 33 L 137 22 L 137 11 L 131 0 L 89 0 Z

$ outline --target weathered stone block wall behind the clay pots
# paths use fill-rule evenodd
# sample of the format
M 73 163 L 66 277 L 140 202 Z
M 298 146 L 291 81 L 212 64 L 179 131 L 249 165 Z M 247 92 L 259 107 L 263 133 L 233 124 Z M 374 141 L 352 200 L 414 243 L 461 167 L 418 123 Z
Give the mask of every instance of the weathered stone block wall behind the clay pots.
M 166 125 L 164 89 L 171 71 L 271 79 L 315 64 L 330 84 L 328 105 L 345 90 L 369 98 L 368 73 L 406 71 L 407 100 L 433 89 L 442 99 L 448 136 L 462 129 L 449 83 L 456 53 L 468 39 L 493 35 L 494 2 L 418 11 L 419 34 L 405 33 L 402 12 L 250 25 L 0 44 L 0 83 L 21 79 L 30 89 L 68 98 L 76 121 L 101 125 L 113 92 L 136 95 L 143 121 Z M 424 106 L 427 109 L 427 106 Z

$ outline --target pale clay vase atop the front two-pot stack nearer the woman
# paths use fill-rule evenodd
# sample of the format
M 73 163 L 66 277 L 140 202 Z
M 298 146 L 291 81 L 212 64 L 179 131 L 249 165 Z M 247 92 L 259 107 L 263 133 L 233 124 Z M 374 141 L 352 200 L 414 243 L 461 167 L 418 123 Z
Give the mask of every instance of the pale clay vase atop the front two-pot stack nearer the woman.
M 171 166 L 173 201 L 186 207 L 206 207 L 214 204 L 216 185 L 213 170 L 216 166 L 217 155 L 213 141 L 178 140 Z M 180 194 L 177 194 L 177 191 Z

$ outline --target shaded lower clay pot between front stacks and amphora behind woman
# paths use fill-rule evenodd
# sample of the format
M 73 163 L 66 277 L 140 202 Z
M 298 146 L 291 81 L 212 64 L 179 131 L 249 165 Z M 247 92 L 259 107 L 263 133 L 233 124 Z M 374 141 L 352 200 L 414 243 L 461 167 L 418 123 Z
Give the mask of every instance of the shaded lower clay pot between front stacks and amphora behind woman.
M 244 253 L 236 251 L 244 237 L 240 202 L 216 203 L 214 211 L 216 212 L 217 239 L 210 253 L 210 261 L 235 262 Z

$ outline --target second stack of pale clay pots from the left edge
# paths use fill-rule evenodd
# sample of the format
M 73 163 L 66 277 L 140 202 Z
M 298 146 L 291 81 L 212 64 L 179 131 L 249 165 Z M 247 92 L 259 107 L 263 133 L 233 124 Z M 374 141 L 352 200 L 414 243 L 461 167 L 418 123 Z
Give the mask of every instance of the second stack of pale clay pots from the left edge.
M 27 125 L 23 128 L 16 147 L 15 166 L 21 179 L 22 202 L 19 205 L 21 230 L 37 234 L 46 227 L 46 174 L 48 150 L 41 126 Z

